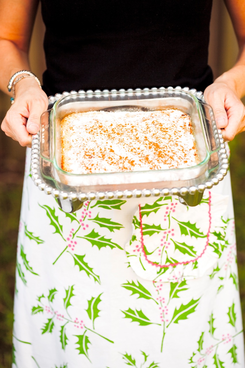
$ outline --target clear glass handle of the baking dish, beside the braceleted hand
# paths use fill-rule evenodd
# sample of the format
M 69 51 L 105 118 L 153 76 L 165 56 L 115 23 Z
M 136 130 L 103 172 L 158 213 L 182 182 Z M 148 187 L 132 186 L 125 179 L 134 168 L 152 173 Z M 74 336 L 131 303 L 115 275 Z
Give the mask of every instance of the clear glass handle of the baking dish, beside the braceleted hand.
M 45 111 L 40 118 L 40 155 L 45 160 L 52 160 L 52 112 L 53 109 Z

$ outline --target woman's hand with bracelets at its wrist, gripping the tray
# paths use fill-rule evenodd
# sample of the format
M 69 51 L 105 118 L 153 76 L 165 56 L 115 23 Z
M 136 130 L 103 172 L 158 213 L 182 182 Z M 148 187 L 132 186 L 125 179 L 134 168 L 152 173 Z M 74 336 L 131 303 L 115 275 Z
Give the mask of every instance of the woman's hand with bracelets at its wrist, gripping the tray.
M 15 85 L 15 100 L 1 129 L 21 146 L 31 147 L 32 134 L 40 128 L 40 116 L 47 110 L 48 98 L 34 78 L 24 78 Z

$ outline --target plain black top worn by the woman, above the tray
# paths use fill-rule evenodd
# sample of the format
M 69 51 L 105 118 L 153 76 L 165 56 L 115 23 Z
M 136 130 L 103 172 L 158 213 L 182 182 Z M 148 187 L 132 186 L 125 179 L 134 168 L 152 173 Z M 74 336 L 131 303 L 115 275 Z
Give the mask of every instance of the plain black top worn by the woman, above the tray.
M 41 0 L 47 95 L 212 83 L 212 0 Z

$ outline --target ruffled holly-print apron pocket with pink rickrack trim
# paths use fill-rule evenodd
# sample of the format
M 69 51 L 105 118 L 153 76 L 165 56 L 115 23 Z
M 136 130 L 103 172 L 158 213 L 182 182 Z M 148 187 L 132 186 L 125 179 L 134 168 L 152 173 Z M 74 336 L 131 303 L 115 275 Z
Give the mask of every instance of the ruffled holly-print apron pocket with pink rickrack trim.
M 146 280 L 181 282 L 203 276 L 221 255 L 215 240 L 227 204 L 228 196 L 206 191 L 196 207 L 184 206 L 174 196 L 139 205 L 125 245 L 129 265 Z

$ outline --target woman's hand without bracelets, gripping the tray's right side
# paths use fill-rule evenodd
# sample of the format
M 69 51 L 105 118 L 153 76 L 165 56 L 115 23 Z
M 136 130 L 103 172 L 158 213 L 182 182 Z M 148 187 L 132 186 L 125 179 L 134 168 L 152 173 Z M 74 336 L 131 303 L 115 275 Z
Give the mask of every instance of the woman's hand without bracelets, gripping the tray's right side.
M 235 135 L 245 131 L 245 107 L 231 84 L 214 81 L 205 89 L 204 98 L 212 106 L 225 141 L 232 141 Z

